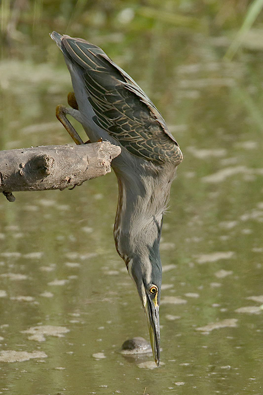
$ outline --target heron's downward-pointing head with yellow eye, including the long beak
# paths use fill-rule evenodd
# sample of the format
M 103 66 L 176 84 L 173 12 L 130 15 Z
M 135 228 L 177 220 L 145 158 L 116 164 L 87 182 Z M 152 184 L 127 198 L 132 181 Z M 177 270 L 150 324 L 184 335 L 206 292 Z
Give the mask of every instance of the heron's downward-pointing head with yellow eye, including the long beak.
M 156 365 L 160 361 L 159 304 L 162 268 L 157 257 L 134 257 L 128 264 L 128 272 L 134 280 L 147 317 L 150 344 Z

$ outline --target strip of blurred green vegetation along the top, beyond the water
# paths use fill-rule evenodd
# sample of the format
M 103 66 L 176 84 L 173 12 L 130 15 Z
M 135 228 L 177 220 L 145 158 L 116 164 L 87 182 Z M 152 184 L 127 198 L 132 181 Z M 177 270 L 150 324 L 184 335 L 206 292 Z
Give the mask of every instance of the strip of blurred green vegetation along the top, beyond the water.
M 34 48 L 39 41 L 45 45 L 54 27 L 89 39 L 99 36 L 106 44 L 140 44 L 145 32 L 150 39 L 156 30 L 165 30 L 182 38 L 193 33 L 220 37 L 223 53 L 233 38 L 243 47 L 262 48 L 262 7 L 262 0 L 1 0 L 1 56 L 47 60 L 47 53 Z

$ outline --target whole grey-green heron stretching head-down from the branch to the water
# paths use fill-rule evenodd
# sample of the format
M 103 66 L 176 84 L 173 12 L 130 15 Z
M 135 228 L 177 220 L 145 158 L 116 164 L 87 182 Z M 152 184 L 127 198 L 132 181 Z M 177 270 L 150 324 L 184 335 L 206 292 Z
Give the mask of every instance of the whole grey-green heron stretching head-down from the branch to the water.
M 66 118 L 77 119 L 91 142 L 121 147 L 112 167 L 119 197 L 114 225 L 116 250 L 135 282 L 147 316 L 155 362 L 160 360 L 159 253 L 163 214 L 182 152 L 164 119 L 137 83 L 88 41 L 53 32 L 71 74 L 72 108 L 57 107 L 77 144 L 82 140 Z

